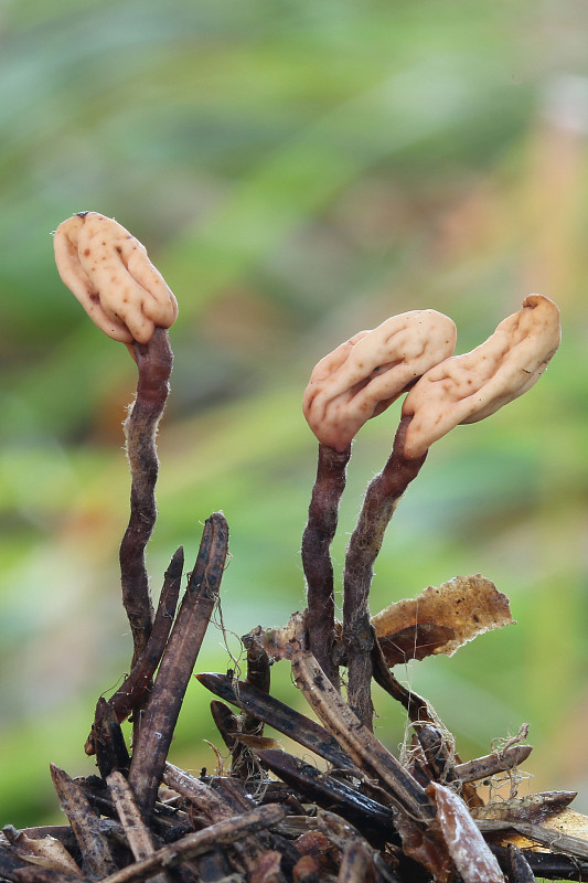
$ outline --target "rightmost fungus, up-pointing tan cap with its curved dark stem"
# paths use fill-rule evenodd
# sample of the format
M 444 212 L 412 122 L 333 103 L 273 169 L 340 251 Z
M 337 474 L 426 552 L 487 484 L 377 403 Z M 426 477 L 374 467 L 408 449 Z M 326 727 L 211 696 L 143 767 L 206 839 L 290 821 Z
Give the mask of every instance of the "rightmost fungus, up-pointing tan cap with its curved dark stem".
M 350 703 L 370 725 L 372 675 L 367 598 L 384 532 L 429 446 L 459 423 L 493 414 L 528 390 L 559 344 L 559 310 L 541 295 L 530 295 L 480 347 L 430 368 L 404 402 L 392 455 L 367 487 L 345 555 L 343 646 L 348 657 Z

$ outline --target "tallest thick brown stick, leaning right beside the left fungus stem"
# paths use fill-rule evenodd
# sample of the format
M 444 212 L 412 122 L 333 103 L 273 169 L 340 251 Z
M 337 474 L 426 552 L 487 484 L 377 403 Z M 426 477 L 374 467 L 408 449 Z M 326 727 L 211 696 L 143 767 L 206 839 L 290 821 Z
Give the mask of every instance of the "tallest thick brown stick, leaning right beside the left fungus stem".
M 228 526 L 225 517 L 215 512 L 206 519 L 196 563 L 133 745 L 129 783 L 147 815 L 157 798 L 184 693 L 218 597 L 227 551 Z

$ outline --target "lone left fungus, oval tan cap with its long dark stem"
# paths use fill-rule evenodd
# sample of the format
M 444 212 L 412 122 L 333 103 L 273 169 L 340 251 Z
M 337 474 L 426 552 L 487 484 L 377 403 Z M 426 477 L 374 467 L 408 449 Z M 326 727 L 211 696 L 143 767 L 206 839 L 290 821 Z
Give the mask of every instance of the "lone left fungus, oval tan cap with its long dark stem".
M 135 663 L 153 623 L 145 550 L 157 518 L 156 435 L 173 363 L 167 329 L 178 316 L 178 304 L 145 246 L 110 217 L 97 212 L 72 215 L 55 231 L 54 249 L 62 280 L 98 328 L 127 344 L 139 372 L 125 422 L 131 494 L 119 554 Z

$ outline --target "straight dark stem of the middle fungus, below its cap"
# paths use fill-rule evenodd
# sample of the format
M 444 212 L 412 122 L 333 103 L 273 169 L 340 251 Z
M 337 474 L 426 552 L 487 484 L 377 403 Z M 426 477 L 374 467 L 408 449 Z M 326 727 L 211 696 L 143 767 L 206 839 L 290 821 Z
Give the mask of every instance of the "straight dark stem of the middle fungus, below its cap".
M 307 579 L 309 646 L 320 667 L 339 690 L 334 642 L 334 582 L 329 547 L 336 531 L 339 501 L 345 488 L 351 445 L 342 453 L 319 445 L 317 480 L 302 535 L 302 567 Z

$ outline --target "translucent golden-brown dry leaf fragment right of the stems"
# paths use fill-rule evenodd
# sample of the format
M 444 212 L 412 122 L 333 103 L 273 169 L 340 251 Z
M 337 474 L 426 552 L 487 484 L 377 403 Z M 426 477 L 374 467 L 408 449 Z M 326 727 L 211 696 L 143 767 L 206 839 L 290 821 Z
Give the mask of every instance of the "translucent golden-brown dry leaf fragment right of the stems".
M 512 623 L 509 598 L 481 574 L 429 586 L 372 618 L 388 666 L 431 653 L 452 656 L 478 635 Z

